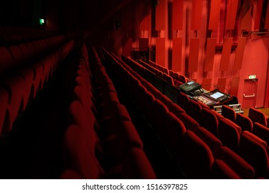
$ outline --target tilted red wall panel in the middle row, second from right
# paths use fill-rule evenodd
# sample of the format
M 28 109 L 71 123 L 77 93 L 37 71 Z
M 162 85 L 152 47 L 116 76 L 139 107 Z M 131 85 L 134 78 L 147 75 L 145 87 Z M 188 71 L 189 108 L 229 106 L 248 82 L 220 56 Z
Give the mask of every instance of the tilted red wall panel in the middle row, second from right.
M 229 69 L 231 49 L 232 49 L 232 38 L 224 39 L 221 54 L 221 64 L 219 66 L 219 70 L 226 71 Z

